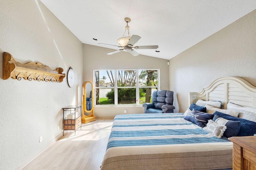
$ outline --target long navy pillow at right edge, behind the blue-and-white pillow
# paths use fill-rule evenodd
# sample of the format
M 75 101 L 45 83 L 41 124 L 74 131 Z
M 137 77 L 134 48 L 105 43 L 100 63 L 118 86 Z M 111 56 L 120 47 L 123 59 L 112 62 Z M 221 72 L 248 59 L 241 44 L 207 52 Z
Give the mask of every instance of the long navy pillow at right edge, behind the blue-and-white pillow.
M 219 117 L 228 120 L 240 121 L 240 130 L 236 136 L 253 136 L 254 134 L 256 134 L 256 122 L 254 121 L 249 121 L 246 119 L 230 116 L 218 111 L 215 111 L 214 115 L 218 115 Z

